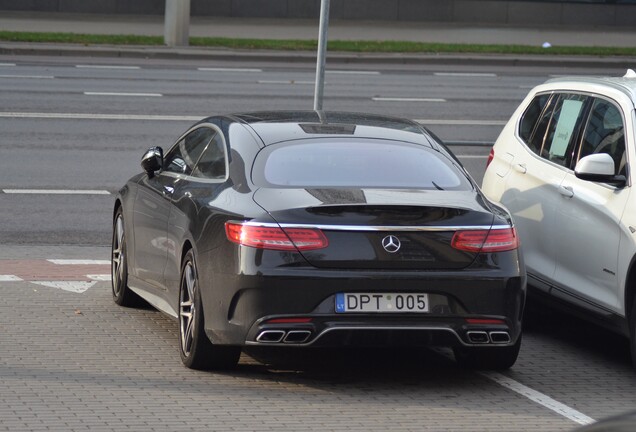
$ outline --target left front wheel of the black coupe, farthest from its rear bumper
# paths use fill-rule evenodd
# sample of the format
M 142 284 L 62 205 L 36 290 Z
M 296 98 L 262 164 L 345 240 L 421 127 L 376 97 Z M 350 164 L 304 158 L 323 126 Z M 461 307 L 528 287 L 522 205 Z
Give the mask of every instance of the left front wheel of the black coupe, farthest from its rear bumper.
M 140 298 L 128 288 L 128 254 L 121 207 L 117 209 L 113 219 L 113 242 L 110 257 L 113 300 L 120 306 L 138 306 Z

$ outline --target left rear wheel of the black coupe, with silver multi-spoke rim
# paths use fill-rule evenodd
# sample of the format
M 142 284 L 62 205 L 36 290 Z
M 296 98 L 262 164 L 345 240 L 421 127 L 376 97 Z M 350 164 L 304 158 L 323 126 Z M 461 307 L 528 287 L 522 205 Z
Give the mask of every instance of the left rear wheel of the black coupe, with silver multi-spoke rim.
M 205 334 L 203 307 L 194 253 L 189 250 L 181 266 L 179 287 L 179 353 L 190 369 L 231 369 L 241 355 L 241 347 L 213 345 Z

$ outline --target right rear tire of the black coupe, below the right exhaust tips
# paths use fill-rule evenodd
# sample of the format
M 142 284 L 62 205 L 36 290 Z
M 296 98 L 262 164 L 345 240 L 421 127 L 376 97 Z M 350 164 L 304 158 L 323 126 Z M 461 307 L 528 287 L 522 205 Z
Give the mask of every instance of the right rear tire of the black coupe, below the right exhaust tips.
M 517 361 L 521 349 L 521 335 L 514 345 L 504 347 L 453 348 L 455 360 L 464 368 L 483 370 L 510 369 Z

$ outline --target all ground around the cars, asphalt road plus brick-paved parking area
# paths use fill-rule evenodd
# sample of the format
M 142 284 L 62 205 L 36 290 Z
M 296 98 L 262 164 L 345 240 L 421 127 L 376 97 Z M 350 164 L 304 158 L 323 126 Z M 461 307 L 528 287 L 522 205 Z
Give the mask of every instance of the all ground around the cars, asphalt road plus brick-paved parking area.
M 324 107 L 419 120 L 480 182 L 481 144 L 528 90 L 586 72 L 600 73 L 352 65 L 327 74 Z M 313 77 L 294 63 L 0 57 L 0 262 L 107 260 L 112 194 L 146 148 L 214 113 L 310 109 Z M 504 374 L 430 350 L 255 352 L 200 373 L 180 365 L 175 323 L 116 307 L 100 280 L 73 292 L 0 277 L 0 431 L 556 431 L 636 406 L 624 338 L 536 307 Z

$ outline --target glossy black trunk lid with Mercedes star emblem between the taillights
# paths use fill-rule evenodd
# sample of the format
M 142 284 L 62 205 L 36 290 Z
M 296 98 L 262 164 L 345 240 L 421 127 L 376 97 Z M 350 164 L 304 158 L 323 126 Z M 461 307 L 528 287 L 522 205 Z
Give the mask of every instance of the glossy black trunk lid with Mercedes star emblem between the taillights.
M 320 268 L 454 270 L 477 253 L 451 246 L 458 229 L 489 228 L 475 191 L 259 189 L 255 201 L 282 228 L 319 228 L 326 248 L 302 251 Z

